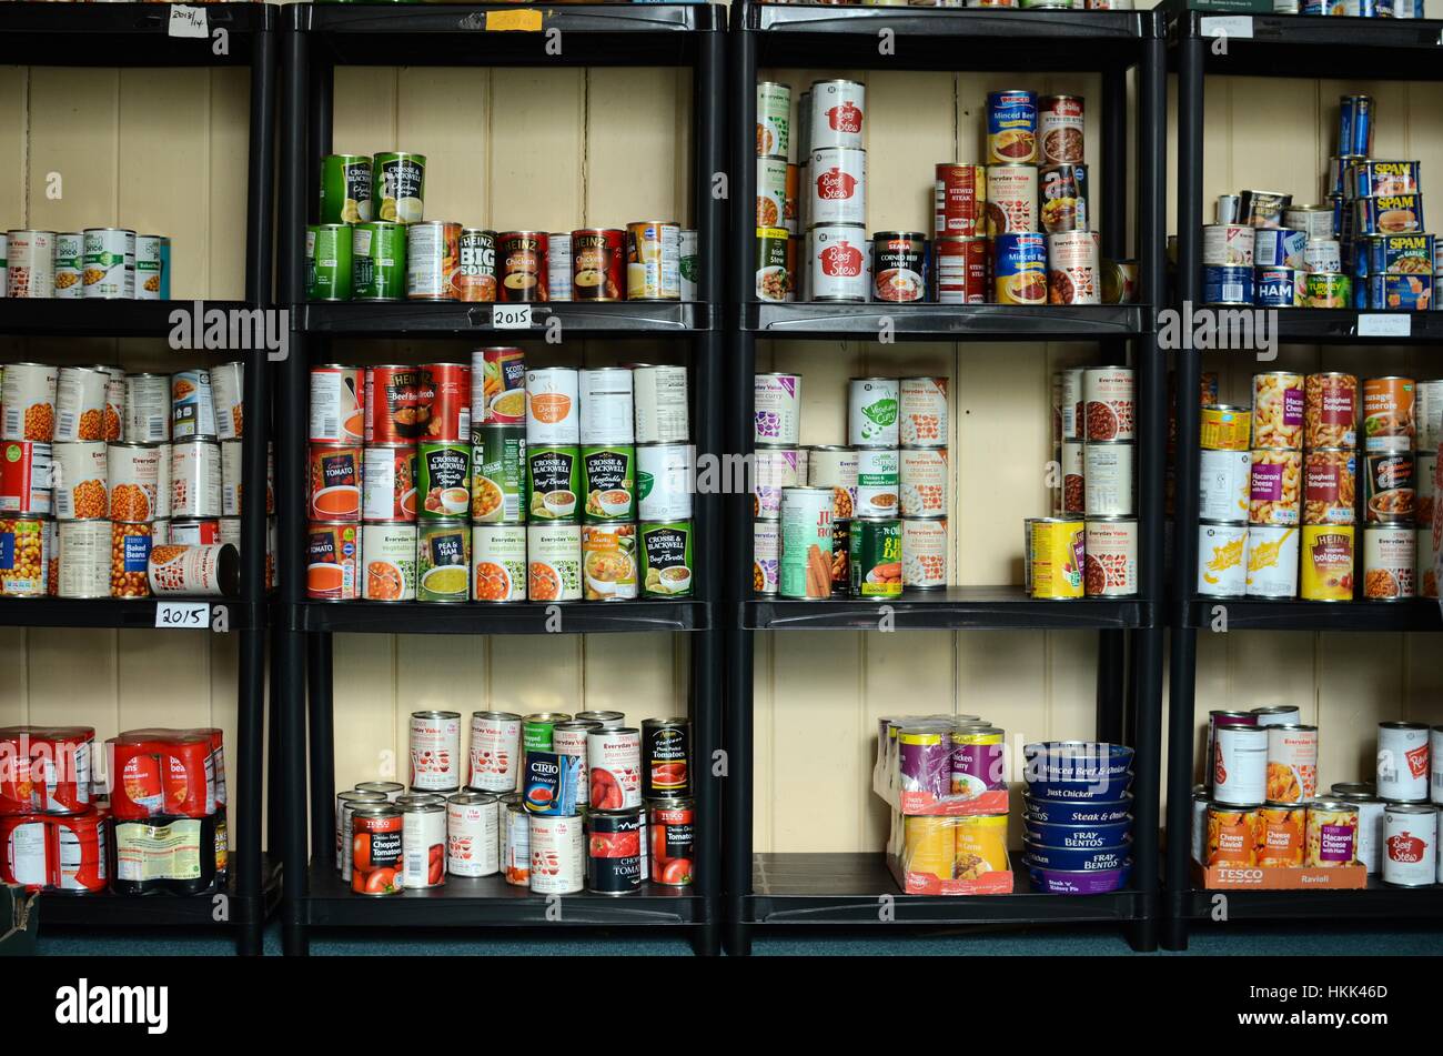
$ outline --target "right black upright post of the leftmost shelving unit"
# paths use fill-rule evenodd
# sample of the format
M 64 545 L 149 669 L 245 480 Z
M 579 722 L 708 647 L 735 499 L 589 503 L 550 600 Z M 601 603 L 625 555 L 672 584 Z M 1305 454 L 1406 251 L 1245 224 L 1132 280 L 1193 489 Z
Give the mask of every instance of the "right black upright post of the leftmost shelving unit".
M 276 172 L 276 35 L 257 30 L 251 50 L 251 113 L 245 198 L 245 302 L 271 310 L 271 260 Z M 270 361 L 266 349 L 245 364 L 242 485 L 248 496 L 266 495 L 266 446 L 270 436 Z M 266 773 L 266 502 L 251 498 L 241 511 L 241 604 L 254 619 L 240 632 L 237 664 L 237 855 L 240 902 L 237 949 L 258 956 L 266 925 L 261 890 L 261 817 Z M 235 918 L 232 916 L 232 920 Z

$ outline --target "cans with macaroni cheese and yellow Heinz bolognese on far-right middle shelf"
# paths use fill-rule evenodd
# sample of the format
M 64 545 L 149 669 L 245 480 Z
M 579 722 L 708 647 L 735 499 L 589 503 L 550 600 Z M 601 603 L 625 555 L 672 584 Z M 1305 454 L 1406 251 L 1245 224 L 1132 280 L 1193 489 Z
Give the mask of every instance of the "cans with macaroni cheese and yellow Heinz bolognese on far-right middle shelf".
M 1361 421 L 1358 378 L 1341 372 L 1257 374 L 1251 410 L 1202 408 L 1199 594 L 1437 596 L 1431 524 L 1443 381 L 1365 378 L 1361 390 Z

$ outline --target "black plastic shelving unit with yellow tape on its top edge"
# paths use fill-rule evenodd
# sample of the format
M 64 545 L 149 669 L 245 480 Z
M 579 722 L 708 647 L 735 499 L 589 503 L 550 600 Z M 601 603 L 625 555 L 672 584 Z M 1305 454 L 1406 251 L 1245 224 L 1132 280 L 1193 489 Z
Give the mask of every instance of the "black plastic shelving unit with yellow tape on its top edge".
M 724 203 L 711 195 L 711 175 L 722 172 L 724 140 L 723 91 L 724 13 L 709 4 L 593 4 L 563 7 L 496 6 L 332 6 L 284 9 L 283 140 L 280 209 L 280 299 L 293 312 L 293 351 L 283 365 L 277 414 L 277 498 L 281 509 L 278 545 L 284 617 L 276 628 L 281 671 L 281 716 L 286 743 L 284 785 L 290 809 L 287 861 L 312 861 L 309 876 L 287 871 L 283 899 L 283 943 L 287 954 L 306 954 L 315 928 L 504 928 L 547 922 L 547 896 L 506 884 L 499 877 L 449 877 L 442 889 L 407 892 L 392 899 L 351 894 L 336 877 L 335 701 L 332 635 L 443 633 L 537 635 L 547 632 L 548 610 L 560 607 L 564 633 L 678 630 L 690 632 L 690 714 L 693 772 L 698 776 L 697 874 L 688 889 L 658 884 L 616 899 L 580 893 L 564 896 L 567 925 L 681 926 L 700 954 L 720 948 L 720 789 L 706 760 L 720 744 L 722 636 L 713 610 L 720 573 L 703 561 L 690 600 L 628 603 L 378 604 L 309 603 L 304 596 L 304 509 L 309 364 L 325 362 L 329 339 L 475 338 L 479 343 L 512 343 L 544 336 L 548 319 L 560 319 L 570 338 L 610 340 L 675 338 L 690 351 L 693 441 L 698 452 L 722 452 L 722 335 L 716 306 L 722 302 Z M 547 53 L 551 30 L 564 40 L 561 55 Z M 694 221 L 701 277 L 698 303 L 532 306 L 531 330 L 495 330 L 489 304 L 304 303 L 304 225 L 315 216 L 319 159 L 332 147 L 333 71 L 338 65 L 385 66 L 688 66 L 694 71 Z M 720 499 L 694 498 L 694 553 L 720 553 Z M 309 692 L 307 692 L 309 685 Z M 307 708 L 309 704 L 309 708 Z M 345 714 L 345 701 L 341 703 Z M 309 763 L 307 763 L 309 716 Z M 642 716 L 633 716 L 639 720 Z M 309 796 L 307 796 L 309 772 Z M 309 818 L 304 804 L 309 802 Z M 307 821 L 310 838 L 307 841 Z

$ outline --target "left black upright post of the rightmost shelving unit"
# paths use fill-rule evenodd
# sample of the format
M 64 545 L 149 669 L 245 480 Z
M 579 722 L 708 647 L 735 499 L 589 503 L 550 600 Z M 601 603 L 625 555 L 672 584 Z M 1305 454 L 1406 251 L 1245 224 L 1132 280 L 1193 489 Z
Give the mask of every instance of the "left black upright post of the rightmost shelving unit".
M 1198 232 L 1202 229 L 1202 92 L 1205 40 L 1193 13 L 1177 20 L 1177 304 L 1202 293 Z M 1160 235 L 1159 235 L 1160 237 Z M 1186 325 L 1186 319 L 1183 319 Z M 1167 871 L 1163 946 L 1188 948 L 1188 893 L 1192 887 L 1192 737 L 1198 632 L 1188 626 L 1188 600 L 1198 583 L 1198 391 L 1202 356 L 1177 349 L 1177 472 L 1173 499 L 1173 613 L 1167 720 Z

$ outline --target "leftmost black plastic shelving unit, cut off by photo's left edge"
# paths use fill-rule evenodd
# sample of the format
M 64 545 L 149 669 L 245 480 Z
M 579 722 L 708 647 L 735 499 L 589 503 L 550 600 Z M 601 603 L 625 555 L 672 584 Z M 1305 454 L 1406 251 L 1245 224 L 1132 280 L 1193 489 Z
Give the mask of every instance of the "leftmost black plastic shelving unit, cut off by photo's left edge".
M 206 310 L 266 309 L 271 303 L 276 163 L 276 9 L 267 4 L 208 4 L 212 38 L 169 35 L 169 4 L 0 6 L 0 63 L 61 66 L 248 66 L 250 150 L 245 202 L 245 300 L 201 302 Z M 215 30 L 228 36 L 227 53 L 212 48 Z M 17 336 L 156 338 L 170 332 L 176 309 L 196 302 L 97 302 L 0 299 L 0 333 Z M 222 353 L 231 358 L 235 351 Z M 245 355 L 242 483 L 247 495 L 266 493 L 266 441 L 270 420 L 270 364 L 264 352 Z M 242 514 L 241 594 L 225 606 L 231 633 L 240 635 L 237 743 L 229 822 L 237 832 L 231 857 L 228 907 L 216 922 L 216 896 L 123 897 L 46 893 L 40 916 L 49 925 L 76 928 L 175 926 L 234 930 L 237 951 L 261 952 L 261 929 L 278 897 L 277 867 L 261 851 L 266 762 L 266 503 L 247 502 Z M 33 628 L 154 628 L 156 602 L 4 599 L 0 625 Z M 209 633 L 199 632 L 199 633 Z M 273 795 L 273 814 L 277 798 Z M 274 827 L 271 828 L 274 832 Z

